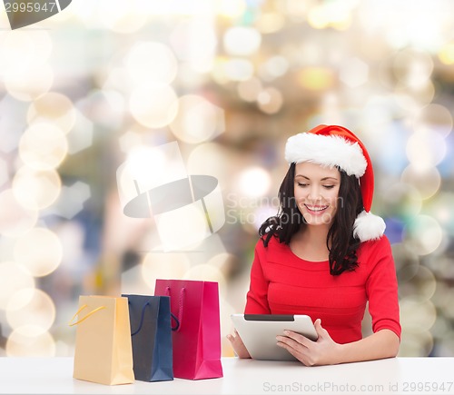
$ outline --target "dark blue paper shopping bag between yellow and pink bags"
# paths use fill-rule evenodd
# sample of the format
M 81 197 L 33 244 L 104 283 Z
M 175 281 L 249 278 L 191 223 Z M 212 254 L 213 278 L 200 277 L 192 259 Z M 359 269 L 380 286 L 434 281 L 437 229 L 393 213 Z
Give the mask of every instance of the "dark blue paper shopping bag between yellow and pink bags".
M 129 304 L 135 380 L 173 380 L 170 298 L 122 296 Z

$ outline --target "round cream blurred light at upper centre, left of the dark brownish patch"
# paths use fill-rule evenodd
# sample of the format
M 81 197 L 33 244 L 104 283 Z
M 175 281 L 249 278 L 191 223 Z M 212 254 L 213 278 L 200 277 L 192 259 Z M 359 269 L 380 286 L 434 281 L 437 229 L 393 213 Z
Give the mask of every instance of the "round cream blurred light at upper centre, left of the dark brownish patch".
M 185 143 L 202 143 L 224 132 L 224 113 L 202 96 L 188 94 L 178 100 L 178 114 L 170 128 Z

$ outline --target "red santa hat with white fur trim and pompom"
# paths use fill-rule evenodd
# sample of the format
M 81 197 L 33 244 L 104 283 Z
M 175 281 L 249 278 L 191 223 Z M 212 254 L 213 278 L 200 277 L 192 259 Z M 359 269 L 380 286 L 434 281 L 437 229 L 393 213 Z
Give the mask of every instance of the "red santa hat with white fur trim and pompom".
M 369 153 L 350 130 L 337 125 L 321 124 L 307 133 L 291 136 L 285 145 L 288 163 L 311 162 L 338 166 L 360 180 L 364 210 L 353 224 L 353 236 L 360 242 L 380 239 L 385 232 L 382 218 L 370 212 L 373 197 L 373 169 Z

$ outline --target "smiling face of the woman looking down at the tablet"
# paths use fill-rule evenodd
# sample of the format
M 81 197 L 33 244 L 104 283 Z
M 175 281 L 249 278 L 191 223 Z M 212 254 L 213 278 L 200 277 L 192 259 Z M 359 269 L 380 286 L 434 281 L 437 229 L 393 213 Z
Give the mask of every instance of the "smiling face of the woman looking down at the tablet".
M 341 173 L 336 168 L 303 162 L 295 166 L 296 204 L 310 225 L 329 225 L 338 207 Z

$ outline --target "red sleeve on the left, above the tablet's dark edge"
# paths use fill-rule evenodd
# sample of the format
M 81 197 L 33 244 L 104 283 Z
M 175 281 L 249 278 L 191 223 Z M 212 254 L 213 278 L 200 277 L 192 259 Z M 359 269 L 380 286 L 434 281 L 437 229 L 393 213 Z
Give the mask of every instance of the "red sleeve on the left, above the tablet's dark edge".
M 251 282 L 244 309 L 246 314 L 271 314 L 267 296 L 270 281 L 265 279 L 262 268 L 265 259 L 265 247 L 262 240 L 259 240 L 255 246 L 254 260 L 252 262 Z

